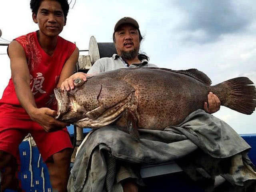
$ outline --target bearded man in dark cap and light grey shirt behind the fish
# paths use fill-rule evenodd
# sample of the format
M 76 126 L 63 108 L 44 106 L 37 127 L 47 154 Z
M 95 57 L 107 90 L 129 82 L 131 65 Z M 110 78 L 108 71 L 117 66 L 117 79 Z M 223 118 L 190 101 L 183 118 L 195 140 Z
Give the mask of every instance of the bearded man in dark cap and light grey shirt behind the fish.
M 135 68 L 135 67 L 157 67 L 148 63 L 148 56 L 140 54 L 140 42 L 143 37 L 140 33 L 139 25 L 136 20 L 130 17 L 124 17 L 118 20 L 114 27 L 113 41 L 116 46 L 117 54 L 113 54 L 110 58 L 100 58 L 88 71 L 88 74 L 96 74 L 116 70 L 119 68 Z M 74 89 L 74 80 L 82 78 L 86 81 L 88 74 L 78 72 L 70 78 L 66 79 L 61 88 L 64 91 Z M 220 108 L 220 100 L 211 92 L 208 94 L 208 104 L 204 104 L 204 110 L 208 113 L 218 111 Z M 136 165 L 128 162 L 121 162 L 117 168 L 116 181 L 122 184 L 124 192 L 138 192 L 139 176 Z

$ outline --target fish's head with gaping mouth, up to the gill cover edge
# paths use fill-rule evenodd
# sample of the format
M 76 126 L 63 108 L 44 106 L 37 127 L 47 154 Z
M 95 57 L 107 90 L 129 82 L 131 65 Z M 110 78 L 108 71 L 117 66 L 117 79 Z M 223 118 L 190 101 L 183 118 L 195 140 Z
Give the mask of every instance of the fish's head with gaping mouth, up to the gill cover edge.
M 73 90 L 54 89 L 58 102 L 56 119 L 79 127 L 98 128 L 119 118 L 134 97 L 134 88 L 104 74 L 74 80 Z

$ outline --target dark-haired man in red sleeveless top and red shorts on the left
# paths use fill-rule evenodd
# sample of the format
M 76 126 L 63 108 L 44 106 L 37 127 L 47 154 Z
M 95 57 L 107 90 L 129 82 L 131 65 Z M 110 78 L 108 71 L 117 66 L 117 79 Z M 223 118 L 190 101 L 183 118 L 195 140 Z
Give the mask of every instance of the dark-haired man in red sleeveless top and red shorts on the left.
M 30 0 L 30 8 L 39 30 L 8 47 L 12 77 L 0 100 L 0 191 L 18 188 L 18 145 L 30 133 L 48 166 L 52 188 L 65 192 L 72 144 L 67 124 L 54 119 L 53 89 L 73 74 L 79 51 L 58 36 L 66 25 L 67 0 Z

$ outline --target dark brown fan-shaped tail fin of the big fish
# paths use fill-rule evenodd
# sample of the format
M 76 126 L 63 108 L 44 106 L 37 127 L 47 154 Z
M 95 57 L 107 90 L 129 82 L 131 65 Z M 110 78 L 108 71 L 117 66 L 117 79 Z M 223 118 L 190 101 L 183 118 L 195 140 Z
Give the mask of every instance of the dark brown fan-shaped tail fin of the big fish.
M 247 77 L 238 77 L 210 86 L 221 105 L 243 114 L 252 114 L 256 107 L 256 88 Z

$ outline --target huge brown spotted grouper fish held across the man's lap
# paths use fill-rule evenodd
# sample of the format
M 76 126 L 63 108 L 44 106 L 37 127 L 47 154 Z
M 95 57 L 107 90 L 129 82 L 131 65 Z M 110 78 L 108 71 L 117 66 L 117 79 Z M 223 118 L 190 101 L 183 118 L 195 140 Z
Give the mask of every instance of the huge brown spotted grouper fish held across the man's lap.
M 256 89 L 247 77 L 210 86 L 211 80 L 196 69 L 129 68 L 77 78 L 75 89 L 54 90 L 56 119 L 79 127 L 100 128 L 111 123 L 127 128 L 138 139 L 137 128 L 164 130 L 180 124 L 191 112 L 203 109 L 208 93 L 221 105 L 244 114 L 256 107 Z

